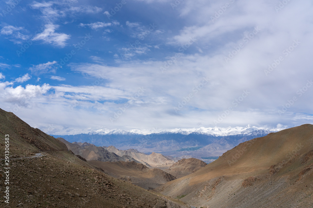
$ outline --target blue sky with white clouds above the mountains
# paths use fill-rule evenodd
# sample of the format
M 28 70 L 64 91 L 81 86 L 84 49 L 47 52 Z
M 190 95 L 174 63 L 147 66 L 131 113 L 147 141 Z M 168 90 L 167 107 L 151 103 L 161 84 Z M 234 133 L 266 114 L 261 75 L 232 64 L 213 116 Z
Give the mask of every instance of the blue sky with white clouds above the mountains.
M 4 0 L 0 108 L 49 134 L 313 123 L 313 2 Z

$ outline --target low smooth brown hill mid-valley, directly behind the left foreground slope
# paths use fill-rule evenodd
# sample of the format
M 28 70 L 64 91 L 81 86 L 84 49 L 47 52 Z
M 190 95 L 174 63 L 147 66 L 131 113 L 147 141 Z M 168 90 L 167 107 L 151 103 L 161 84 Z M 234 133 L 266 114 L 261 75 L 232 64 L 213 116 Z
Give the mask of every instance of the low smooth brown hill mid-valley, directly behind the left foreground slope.
M 124 181 L 130 181 L 132 184 L 141 186 L 144 189 L 154 189 L 162 184 L 176 179 L 169 173 L 157 168 L 148 168 L 141 163 L 136 162 L 100 162 L 89 161 L 96 167 L 100 167 L 110 176 Z

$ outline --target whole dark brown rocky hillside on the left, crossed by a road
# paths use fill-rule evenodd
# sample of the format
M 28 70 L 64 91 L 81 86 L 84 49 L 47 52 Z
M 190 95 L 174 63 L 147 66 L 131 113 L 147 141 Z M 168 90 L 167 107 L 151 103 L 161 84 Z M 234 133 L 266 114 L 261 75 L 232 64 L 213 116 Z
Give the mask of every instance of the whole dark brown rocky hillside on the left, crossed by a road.
M 5 135 L 9 135 L 5 136 Z M 0 109 L 0 149 L 10 138 L 9 184 L 0 170 L 0 207 L 185 207 L 129 182 L 115 179 L 67 151 L 64 143 Z M 3 158 L 1 158 L 3 159 Z M 6 176 L 7 177 L 7 176 Z M 4 190 L 9 186 L 9 204 Z

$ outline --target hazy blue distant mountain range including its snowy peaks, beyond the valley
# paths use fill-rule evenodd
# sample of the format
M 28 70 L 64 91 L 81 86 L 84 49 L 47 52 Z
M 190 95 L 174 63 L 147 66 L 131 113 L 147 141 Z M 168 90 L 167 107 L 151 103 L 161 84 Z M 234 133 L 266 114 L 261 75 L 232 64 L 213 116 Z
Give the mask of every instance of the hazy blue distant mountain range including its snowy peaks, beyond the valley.
M 140 152 L 162 153 L 173 157 L 195 157 L 212 162 L 239 143 L 277 132 L 279 128 L 259 128 L 247 125 L 235 128 L 176 128 L 176 129 L 99 129 L 76 135 L 52 135 L 69 142 L 87 142 L 96 146 L 137 149 Z

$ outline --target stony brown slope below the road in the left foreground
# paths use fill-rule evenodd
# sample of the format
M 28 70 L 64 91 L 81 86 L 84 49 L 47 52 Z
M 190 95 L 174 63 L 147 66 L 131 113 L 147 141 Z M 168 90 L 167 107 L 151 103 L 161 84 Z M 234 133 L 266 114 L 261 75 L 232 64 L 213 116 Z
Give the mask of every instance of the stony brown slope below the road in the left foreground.
M 184 207 L 92 169 L 69 151 L 11 161 L 10 204 L 1 200 L 4 207 Z

